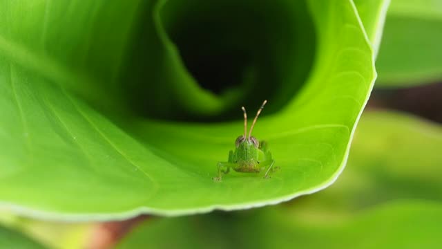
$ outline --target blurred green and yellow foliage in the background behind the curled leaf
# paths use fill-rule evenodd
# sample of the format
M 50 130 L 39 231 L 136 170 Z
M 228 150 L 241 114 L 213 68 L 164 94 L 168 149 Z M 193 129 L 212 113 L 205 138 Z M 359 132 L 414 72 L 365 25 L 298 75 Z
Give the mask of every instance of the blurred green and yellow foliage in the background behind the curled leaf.
M 175 6 L 166 11 L 181 8 L 184 7 Z M 164 17 L 168 15 L 172 14 L 165 13 Z M 198 26 L 198 20 L 177 23 L 204 30 Z M 230 25 L 234 24 L 232 20 Z M 167 26 L 166 21 L 165 25 L 166 31 L 180 29 Z M 192 44 L 186 41 L 185 35 L 175 34 L 172 39 L 178 46 L 184 46 L 183 53 L 206 53 L 206 48 L 189 47 Z M 327 190 L 256 210 L 179 218 L 152 217 L 141 223 L 138 220 L 133 231 L 121 241 L 117 239 L 121 239 L 122 234 L 114 234 L 106 245 L 117 243 L 117 248 L 438 248 L 442 243 L 441 39 L 442 1 L 392 1 L 376 61 L 376 89 L 356 131 L 347 167 Z M 211 42 L 220 41 L 213 38 Z M 253 37 L 249 42 L 253 43 Z M 262 46 L 254 45 L 258 50 Z M 146 51 L 134 50 L 133 56 L 142 59 L 143 53 Z M 193 62 L 186 63 L 192 67 Z M 265 59 L 262 63 L 265 65 Z M 236 66 L 233 64 L 230 69 L 235 70 Z M 253 73 L 253 68 L 250 70 Z M 203 79 L 210 73 L 204 71 L 195 77 Z M 221 91 L 218 83 L 209 87 L 215 92 Z M 0 247 L 3 248 L 43 248 L 17 231 L 50 248 L 90 246 L 91 231 L 98 226 L 11 217 L 11 214 L 3 215 L 3 224 L 8 227 L 0 228 Z

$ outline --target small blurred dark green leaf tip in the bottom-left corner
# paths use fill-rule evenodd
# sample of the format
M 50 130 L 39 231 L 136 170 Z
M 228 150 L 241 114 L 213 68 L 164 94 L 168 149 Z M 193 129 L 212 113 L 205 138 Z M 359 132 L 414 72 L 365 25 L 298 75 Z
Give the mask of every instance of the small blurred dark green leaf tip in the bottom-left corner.
M 0 226 L 0 248 L 1 249 L 44 249 L 39 243 L 24 237 L 19 232 L 9 230 Z

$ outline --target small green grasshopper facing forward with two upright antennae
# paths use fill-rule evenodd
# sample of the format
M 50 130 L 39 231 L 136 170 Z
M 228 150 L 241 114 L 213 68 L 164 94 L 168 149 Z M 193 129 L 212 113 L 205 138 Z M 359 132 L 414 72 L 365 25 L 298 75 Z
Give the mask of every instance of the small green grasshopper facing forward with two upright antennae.
M 221 181 L 223 174 L 228 174 L 232 168 L 236 172 L 242 173 L 260 173 L 265 170 L 264 178 L 268 178 L 269 172 L 273 171 L 275 160 L 271 158 L 271 153 L 267 147 L 267 142 L 261 141 L 251 136 L 251 131 L 255 126 L 256 120 L 260 115 L 267 100 L 262 102 L 260 109 L 256 113 L 255 119 L 251 124 L 249 136 L 247 136 L 247 113 L 244 107 L 241 107 L 244 113 L 244 135 L 235 140 L 235 152 L 229 151 L 229 160 L 227 162 L 218 162 L 218 176 L 213 177 L 213 181 Z

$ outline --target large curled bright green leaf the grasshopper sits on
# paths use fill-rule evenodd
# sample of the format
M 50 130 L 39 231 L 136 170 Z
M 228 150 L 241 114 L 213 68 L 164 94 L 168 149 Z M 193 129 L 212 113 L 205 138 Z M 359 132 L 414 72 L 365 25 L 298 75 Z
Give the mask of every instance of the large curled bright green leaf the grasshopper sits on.
M 261 11 L 287 10 L 287 16 L 309 13 L 300 15 L 305 19 L 296 26 L 314 23 L 316 41 L 307 43 L 315 48 L 314 65 L 294 95 L 299 75 L 291 74 L 296 71 L 282 53 L 285 47 L 276 40 L 268 44 L 267 48 L 279 51 L 274 59 L 284 66 L 278 74 L 284 84 L 273 98 L 275 106 L 269 101 L 269 110 L 278 112 L 260 118 L 254 135 L 269 142 L 281 169 L 269 180 L 229 174 L 222 183 L 211 178 L 216 163 L 227 159 L 242 132 L 239 109 L 238 121 L 218 123 L 154 121 L 130 111 L 109 114 L 108 102 L 121 104 L 119 111 L 126 108 L 126 102 L 116 102 L 124 100 L 120 90 L 125 82 L 117 79 L 140 64 L 140 58 L 128 52 L 138 48 L 133 39 L 137 32 L 131 30 L 146 26 L 143 37 L 147 39 L 149 27 L 158 23 L 137 16 L 153 10 L 153 2 L 106 2 L 0 3 L 2 10 L 8 10 L 0 17 L 1 207 L 26 216 L 71 220 L 238 210 L 317 192 L 342 172 L 376 77 L 372 49 L 352 1 L 278 1 L 260 7 Z M 195 15 L 214 15 L 218 9 L 211 11 Z M 171 17 L 164 14 L 164 26 Z M 167 49 L 153 57 L 164 59 L 165 64 L 151 60 L 148 71 L 180 75 L 179 65 L 172 63 L 180 58 L 170 57 L 170 41 L 152 39 L 148 50 Z M 154 46 L 155 41 L 168 46 Z M 122 58 L 127 59 L 124 65 Z M 136 80 L 140 72 L 133 70 Z M 162 95 L 165 92 L 156 87 L 162 87 L 163 79 L 157 76 L 148 78 L 152 81 L 146 85 L 152 86 L 150 94 Z M 166 86 L 171 91 L 179 91 L 175 84 L 179 79 L 164 82 L 169 82 Z M 108 92 L 99 91 L 106 87 Z M 191 98 L 185 100 L 195 104 Z M 167 103 L 148 108 L 171 111 Z M 194 113 L 193 107 L 182 108 Z

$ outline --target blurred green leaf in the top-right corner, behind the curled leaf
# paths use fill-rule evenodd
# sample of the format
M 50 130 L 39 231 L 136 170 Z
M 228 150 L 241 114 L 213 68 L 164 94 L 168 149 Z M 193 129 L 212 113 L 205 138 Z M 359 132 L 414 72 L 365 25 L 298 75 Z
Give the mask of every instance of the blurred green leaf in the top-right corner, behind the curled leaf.
M 442 1 L 394 0 L 376 61 L 379 87 L 442 79 Z

